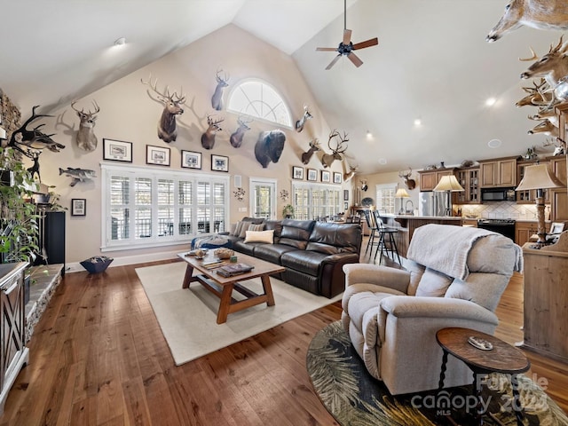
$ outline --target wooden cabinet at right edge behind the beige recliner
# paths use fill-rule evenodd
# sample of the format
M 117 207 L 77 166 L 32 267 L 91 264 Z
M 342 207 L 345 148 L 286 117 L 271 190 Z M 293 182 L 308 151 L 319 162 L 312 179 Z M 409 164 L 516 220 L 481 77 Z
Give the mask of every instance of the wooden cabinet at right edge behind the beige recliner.
M 523 246 L 525 260 L 524 341 L 522 347 L 568 362 L 568 233 L 551 246 Z

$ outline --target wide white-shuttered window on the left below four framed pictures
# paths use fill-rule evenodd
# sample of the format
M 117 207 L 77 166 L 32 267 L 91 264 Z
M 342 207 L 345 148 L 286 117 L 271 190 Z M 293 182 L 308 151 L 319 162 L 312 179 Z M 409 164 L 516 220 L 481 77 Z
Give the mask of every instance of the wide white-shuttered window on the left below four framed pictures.
M 102 248 L 178 244 L 224 232 L 228 177 L 101 164 Z

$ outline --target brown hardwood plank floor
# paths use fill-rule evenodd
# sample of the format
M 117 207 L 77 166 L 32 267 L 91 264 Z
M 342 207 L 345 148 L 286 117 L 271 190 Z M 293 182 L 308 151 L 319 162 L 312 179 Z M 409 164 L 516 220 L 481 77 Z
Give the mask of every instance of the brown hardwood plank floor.
M 339 319 L 339 303 L 176 367 L 134 271 L 146 265 L 65 276 L 0 426 L 337 424 L 312 390 L 305 356 L 313 335 Z M 513 277 L 497 309 L 496 335 L 509 343 L 522 339 L 522 287 Z M 568 366 L 525 353 L 527 375 L 566 411 Z

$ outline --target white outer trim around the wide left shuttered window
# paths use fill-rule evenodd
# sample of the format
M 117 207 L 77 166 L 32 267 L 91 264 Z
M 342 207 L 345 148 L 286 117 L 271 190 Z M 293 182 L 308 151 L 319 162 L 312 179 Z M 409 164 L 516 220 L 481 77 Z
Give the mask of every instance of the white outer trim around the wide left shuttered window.
M 184 244 L 187 242 L 191 242 L 193 238 L 198 236 L 197 234 L 191 234 L 187 237 L 177 238 L 176 240 L 161 240 L 161 241 L 147 241 L 147 242 L 140 242 L 137 244 L 132 244 L 132 241 L 129 239 L 127 241 L 121 242 L 114 242 L 112 245 L 108 245 L 107 240 L 107 222 L 110 220 L 109 217 L 106 216 L 106 212 L 108 210 L 108 172 L 120 172 L 120 173 L 129 173 L 134 174 L 136 177 L 164 177 L 164 178 L 174 178 L 174 179 L 207 179 L 211 183 L 223 183 L 225 184 L 226 191 L 225 191 L 225 224 L 229 222 L 229 213 L 230 213 L 230 197 L 229 197 L 229 176 L 219 176 L 218 174 L 213 173 L 201 173 L 201 172 L 187 172 L 183 170 L 157 170 L 153 167 L 140 167 L 140 166 L 133 166 L 131 164 L 109 164 L 106 162 L 100 163 L 100 170 L 101 170 L 101 224 L 100 224 L 100 251 L 119 251 L 119 250 L 131 250 L 131 249 L 138 249 L 138 248 L 155 248 L 155 247 L 164 247 L 164 246 L 175 246 L 179 244 Z M 154 208 L 155 206 L 153 206 Z M 200 234 L 201 235 L 201 234 Z

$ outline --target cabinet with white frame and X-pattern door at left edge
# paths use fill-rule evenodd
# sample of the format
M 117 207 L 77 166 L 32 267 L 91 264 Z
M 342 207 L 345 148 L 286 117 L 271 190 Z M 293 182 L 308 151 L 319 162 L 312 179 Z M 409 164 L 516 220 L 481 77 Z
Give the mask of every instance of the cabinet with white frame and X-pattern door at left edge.
M 27 262 L 0 264 L 0 415 L 4 413 L 4 403 L 12 384 L 29 358 L 24 308 L 24 270 L 27 266 Z

